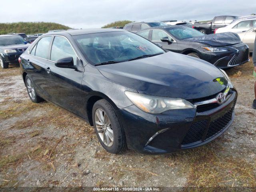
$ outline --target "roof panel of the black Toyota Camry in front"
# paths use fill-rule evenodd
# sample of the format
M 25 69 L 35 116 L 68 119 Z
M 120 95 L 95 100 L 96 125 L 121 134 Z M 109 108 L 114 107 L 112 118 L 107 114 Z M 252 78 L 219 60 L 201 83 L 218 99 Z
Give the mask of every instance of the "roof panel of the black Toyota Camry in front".
M 84 34 L 92 34 L 92 33 L 104 33 L 104 32 L 115 32 L 115 31 L 126 31 L 123 29 L 113 29 L 113 28 L 100 28 L 100 29 L 77 29 L 77 30 L 68 30 L 68 31 L 58 31 L 58 32 L 49 32 L 45 35 L 84 35 Z

